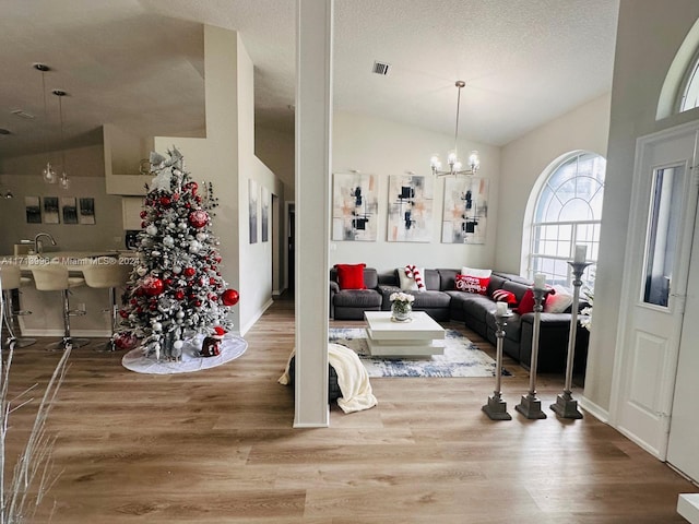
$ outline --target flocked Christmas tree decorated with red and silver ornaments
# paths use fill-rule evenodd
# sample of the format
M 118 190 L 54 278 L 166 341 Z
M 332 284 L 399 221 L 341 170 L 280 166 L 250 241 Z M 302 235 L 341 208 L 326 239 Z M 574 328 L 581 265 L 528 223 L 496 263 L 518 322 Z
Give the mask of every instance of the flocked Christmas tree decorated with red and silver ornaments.
M 211 183 L 199 184 L 175 147 L 168 157 L 151 153 L 139 261 L 126 287 L 117 344 L 140 340 L 146 355 L 179 360 L 183 341 L 196 334 L 223 336 L 238 291 L 221 276 L 218 239 L 211 231 L 217 201 Z

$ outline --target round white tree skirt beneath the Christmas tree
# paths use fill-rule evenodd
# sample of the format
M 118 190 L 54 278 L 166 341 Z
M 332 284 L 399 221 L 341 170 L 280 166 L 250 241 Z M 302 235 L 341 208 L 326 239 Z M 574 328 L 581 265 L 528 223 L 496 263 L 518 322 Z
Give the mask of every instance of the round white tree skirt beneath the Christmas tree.
M 202 369 L 215 368 L 222 364 L 235 360 L 248 348 L 245 338 L 226 333 L 221 342 L 221 355 L 216 357 L 202 357 L 199 355 L 204 335 L 197 335 L 189 341 L 185 341 L 182 347 L 182 360 L 171 362 L 167 360 L 156 360 L 155 355 L 144 356 L 143 349 L 137 347 L 127 353 L 121 359 L 125 368 L 137 373 L 150 374 L 173 374 L 191 373 Z

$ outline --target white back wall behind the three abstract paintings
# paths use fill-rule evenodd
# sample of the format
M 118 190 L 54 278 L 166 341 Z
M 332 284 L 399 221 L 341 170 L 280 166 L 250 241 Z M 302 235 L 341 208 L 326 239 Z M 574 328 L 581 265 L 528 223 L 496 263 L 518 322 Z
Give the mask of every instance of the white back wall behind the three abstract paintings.
M 425 267 L 493 267 L 498 226 L 500 150 L 496 146 L 461 140 L 461 156 L 478 150 L 478 176 L 489 179 L 488 228 L 485 245 L 441 243 L 441 213 L 445 179 L 434 183 L 434 228 L 430 242 L 388 242 L 388 188 L 390 175 L 413 171 L 431 177 L 429 158 L 435 153 L 446 157 L 453 147 L 453 136 L 433 133 L 374 117 L 336 111 L 333 116 L 333 171 L 352 169 L 378 177 L 379 212 L 376 242 L 331 241 L 330 264 L 364 262 L 379 271 L 416 264 Z M 330 175 L 331 176 L 331 175 Z

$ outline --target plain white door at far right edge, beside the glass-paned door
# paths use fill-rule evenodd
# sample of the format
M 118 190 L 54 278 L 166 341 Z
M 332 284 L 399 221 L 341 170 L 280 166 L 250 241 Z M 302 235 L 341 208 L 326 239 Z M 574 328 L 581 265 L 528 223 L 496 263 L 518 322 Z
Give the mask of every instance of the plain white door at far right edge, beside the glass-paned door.
M 699 167 L 695 167 L 699 170 Z M 697 175 L 695 174 L 695 177 Z M 699 222 L 695 222 L 695 236 L 687 284 L 687 305 L 679 343 L 677 379 L 667 444 L 667 462 L 685 475 L 699 483 L 699 424 L 697 424 L 697 398 L 699 398 Z

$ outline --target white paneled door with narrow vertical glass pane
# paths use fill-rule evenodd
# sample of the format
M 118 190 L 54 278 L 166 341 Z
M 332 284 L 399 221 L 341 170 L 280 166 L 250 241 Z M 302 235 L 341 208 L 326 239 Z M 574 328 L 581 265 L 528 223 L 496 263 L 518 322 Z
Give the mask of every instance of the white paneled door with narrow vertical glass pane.
M 615 367 L 617 428 L 665 460 L 697 188 L 696 129 L 640 139 Z

